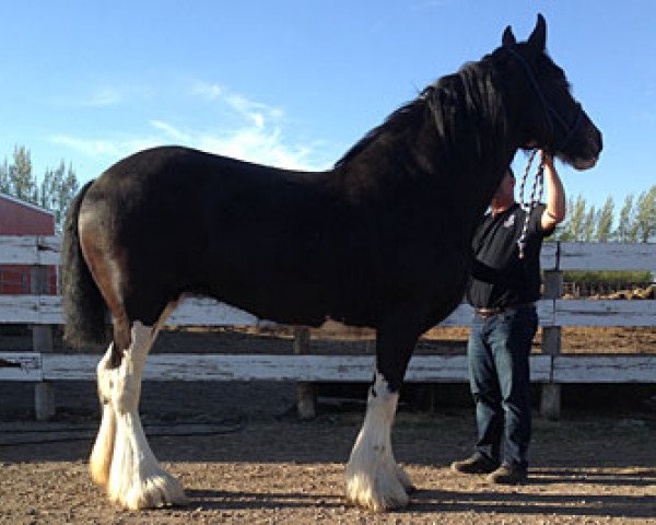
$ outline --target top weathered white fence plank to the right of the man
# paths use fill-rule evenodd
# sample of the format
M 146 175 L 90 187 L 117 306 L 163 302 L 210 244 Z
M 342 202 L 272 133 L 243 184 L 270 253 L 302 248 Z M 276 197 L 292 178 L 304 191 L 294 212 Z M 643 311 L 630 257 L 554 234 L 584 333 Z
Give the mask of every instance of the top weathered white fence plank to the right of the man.
M 559 268 L 656 271 L 656 244 L 561 243 Z

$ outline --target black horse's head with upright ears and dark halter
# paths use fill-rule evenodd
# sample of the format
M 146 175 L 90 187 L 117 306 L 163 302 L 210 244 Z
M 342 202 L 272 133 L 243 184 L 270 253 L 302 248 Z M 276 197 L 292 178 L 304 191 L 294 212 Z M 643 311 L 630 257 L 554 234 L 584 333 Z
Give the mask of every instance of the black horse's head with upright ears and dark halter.
M 601 133 L 572 94 L 561 68 L 546 52 L 547 23 L 539 14 L 528 40 L 517 43 L 511 27 L 494 55 L 512 79 L 511 96 L 522 119 L 520 147 L 542 148 L 577 170 L 593 167 Z

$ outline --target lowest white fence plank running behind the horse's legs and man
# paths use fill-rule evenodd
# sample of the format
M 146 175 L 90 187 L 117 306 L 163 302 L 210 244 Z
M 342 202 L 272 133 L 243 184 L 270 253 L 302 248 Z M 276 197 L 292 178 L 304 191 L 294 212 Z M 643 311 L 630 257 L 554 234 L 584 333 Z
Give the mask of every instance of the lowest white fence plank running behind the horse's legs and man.
M 44 354 L 44 378 L 94 381 L 99 355 Z M 531 355 L 531 380 L 549 381 L 549 355 Z M 468 381 L 465 355 L 415 355 L 406 381 Z M 363 382 L 374 374 L 373 355 L 156 354 L 148 359 L 150 381 Z

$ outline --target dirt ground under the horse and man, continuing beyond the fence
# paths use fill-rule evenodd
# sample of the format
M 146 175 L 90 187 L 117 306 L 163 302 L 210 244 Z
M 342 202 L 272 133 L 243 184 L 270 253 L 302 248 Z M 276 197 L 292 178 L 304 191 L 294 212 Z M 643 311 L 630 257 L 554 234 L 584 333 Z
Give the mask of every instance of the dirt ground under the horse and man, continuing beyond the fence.
M 420 351 L 461 351 L 462 335 L 442 331 Z M 564 347 L 589 351 L 594 345 L 595 353 L 656 348 L 653 330 L 606 335 L 585 334 Z M 366 335 L 355 336 L 359 351 L 373 351 Z M 198 331 L 166 332 L 155 350 L 237 351 L 237 341 L 248 351 L 291 350 L 289 338 Z M 313 348 L 323 345 L 313 341 Z M 396 457 L 418 491 L 408 509 L 371 514 L 342 498 L 343 464 L 364 412 L 352 393 L 319 390 L 319 416 L 298 421 L 290 383 L 144 383 L 141 413 L 151 445 L 183 481 L 191 504 L 134 513 L 109 504 L 86 472 L 98 422 L 94 384 L 57 383 L 56 420 L 33 423 L 34 385 L 0 383 L 0 439 L 24 438 L 0 445 L 0 523 L 656 523 L 654 385 L 563 389 L 561 420 L 535 415 L 529 483 L 520 487 L 493 487 L 448 469 L 470 453 L 472 410 L 465 385 L 431 388 L 436 409 L 418 411 L 409 389 L 393 436 Z M 157 423 L 174 431 L 156 431 Z M 62 429 L 78 431 L 78 438 Z M 46 430 L 59 433 L 48 434 L 54 442 L 37 443 Z

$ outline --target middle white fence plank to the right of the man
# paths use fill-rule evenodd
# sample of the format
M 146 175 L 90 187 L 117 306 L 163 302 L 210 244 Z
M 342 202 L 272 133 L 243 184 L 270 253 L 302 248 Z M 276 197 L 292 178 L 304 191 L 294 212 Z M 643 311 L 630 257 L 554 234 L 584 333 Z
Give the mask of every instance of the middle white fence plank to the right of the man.
M 656 326 L 656 301 L 555 300 L 555 326 Z

